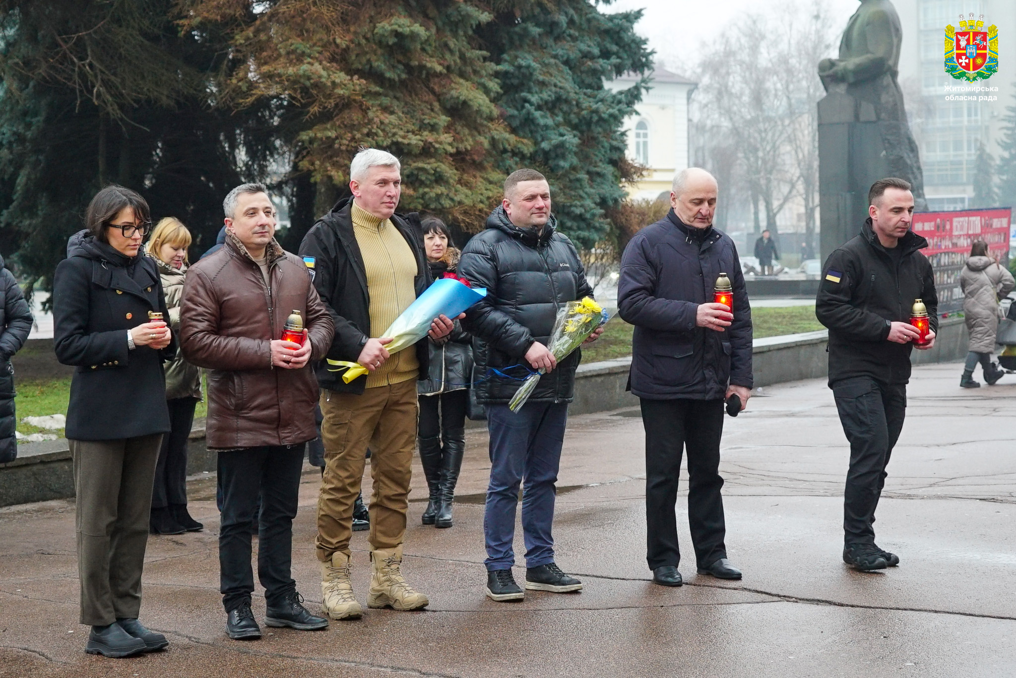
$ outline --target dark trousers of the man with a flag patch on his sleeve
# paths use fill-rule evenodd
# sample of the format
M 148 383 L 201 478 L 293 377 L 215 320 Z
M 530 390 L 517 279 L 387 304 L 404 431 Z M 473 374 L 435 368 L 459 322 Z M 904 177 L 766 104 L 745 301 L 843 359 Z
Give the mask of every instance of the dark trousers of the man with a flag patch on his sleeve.
M 886 483 L 886 467 L 906 414 L 906 384 L 851 377 L 832 385 L 843 433 L 850 442 L 850 468 L 843 492 L 846 544 L 874 544 L 875 508 Z

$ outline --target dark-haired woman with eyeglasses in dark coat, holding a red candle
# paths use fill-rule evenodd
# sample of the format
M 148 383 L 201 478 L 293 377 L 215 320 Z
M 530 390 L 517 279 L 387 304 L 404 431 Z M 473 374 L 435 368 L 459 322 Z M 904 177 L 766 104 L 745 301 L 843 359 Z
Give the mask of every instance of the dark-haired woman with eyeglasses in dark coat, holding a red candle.
M 57 359 L 74 365 L 66 435 L 77 496 L 85 652 L 129 657 L 169 641 L 138 621 L 152 478 L 170 431 L 163 361 L 176 354 L 155 262 L 141 243 L 148 205 L 107 186 L 53 279 Z M 149 313 L 161 313 L 149 319 Z

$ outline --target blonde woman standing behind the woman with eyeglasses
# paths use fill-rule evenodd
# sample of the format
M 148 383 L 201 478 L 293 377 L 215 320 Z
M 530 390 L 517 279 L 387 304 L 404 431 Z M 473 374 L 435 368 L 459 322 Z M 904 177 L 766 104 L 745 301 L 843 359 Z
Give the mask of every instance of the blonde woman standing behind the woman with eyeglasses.
M 167 320 L 174 332 L 180 328 L 180 297 L 187 274 L 190 244 L 187 227 L 167 217 L 155 225 L 146 249 L 148 256 L 155 260 L 163 280 L 166 306 L 170 310 Z M 194 423 L 194 409 L 201 400 L 201 372 L 184 361 L 179 349 L 165 369 L 171 430 L 163 436 L 158 452 L 148 530 L 152 535 L 180 535 L 204 528 L 187 512 L 187 437 Z

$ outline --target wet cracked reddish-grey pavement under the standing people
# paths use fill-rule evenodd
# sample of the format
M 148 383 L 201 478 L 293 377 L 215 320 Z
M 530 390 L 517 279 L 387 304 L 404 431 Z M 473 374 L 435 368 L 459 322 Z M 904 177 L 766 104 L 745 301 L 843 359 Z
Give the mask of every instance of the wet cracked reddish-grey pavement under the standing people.
M 618 411 L 574 418 L 565 443 L 558 563 L 585 589 L 527 592 L 517 604 L 483 594 L 484 431 L 469 432 L 454 528 L 420 525 L 415 469 L 403 570 L 430 607 L 368 610 L 320 632 L 227 638 L 207 476 L 190 487 L 207 530 L 148 543 L 142 621 L 170 649 L 128 660 L 82 652 L 73 504 L 0 509 L 0 676 L 1012 676 L 1016 377 L 961 390 L 959 373 L 955 364 L 914 371 L 876 525 L 896 568 L 864 574 L 840 560 L 847 447 L 830 391 L 812 380 L 766 387 L 726 420 L 726 544 L 740 582 L 696 575 L 693 558 L 681 567 L 685 587 L 649 581 L 641 422 L 637 410 Z M 294 539 L 312 610 L 317 485 L 308 467 Z M 353 546 L 364 603 L 366 533 Z M 263 606 L 259 591 L 258 617 Z

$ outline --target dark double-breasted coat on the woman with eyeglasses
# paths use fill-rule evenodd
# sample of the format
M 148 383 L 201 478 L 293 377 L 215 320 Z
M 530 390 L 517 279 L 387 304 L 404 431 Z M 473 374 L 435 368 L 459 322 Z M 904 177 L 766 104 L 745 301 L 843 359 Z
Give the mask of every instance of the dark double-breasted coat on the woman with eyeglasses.
M 170 317 L 155 262 L 128 257 L 80 231 L 53 276 L 53 346 L 57 360 L 74 365 L 67 408 L 71 440 L 119 440 L 170 432 L 163 361 L 177 354 L 177 337 L 155 351 L 128 349 L 127 330 Z

